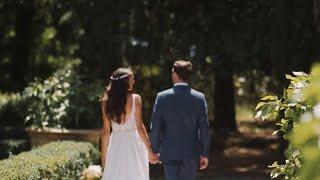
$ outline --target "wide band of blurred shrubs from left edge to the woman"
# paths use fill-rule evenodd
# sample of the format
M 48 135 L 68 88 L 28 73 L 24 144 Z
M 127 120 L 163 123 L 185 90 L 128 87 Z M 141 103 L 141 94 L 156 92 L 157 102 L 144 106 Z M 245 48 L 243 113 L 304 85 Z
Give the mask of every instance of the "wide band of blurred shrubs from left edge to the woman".
M 1 94 L 0 123 L 4 126 L 97 128 L 103 82 L 77 73 L 73 60 L 45 80 L 36 78 L 22 93 Z

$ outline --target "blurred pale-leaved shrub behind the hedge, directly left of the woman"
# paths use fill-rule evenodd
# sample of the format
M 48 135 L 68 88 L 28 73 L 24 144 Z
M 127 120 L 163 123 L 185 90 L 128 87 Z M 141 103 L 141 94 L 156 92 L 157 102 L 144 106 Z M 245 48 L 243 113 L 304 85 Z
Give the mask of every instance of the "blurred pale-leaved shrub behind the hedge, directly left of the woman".
M 76 73 L 78 63 L 67 64 L 46 80 L 36 80 L 25 89 L 23 96 L 29 102 L 25 118 L 27 126 L 100 127 L 99 96 L 102 83 L 85 82 Z

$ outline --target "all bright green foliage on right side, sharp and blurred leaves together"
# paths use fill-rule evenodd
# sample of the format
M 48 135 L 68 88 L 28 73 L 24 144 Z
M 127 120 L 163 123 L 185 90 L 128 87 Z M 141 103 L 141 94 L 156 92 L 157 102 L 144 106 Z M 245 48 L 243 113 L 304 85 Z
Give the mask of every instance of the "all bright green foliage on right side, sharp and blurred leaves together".
M 290 85 L 283 96 L 266 96 L 256 106 L 257 116 L 262 120 L 274 120 L 281 134 L 289 141 L 285 164 L 275 162 L 272 178 L 316 179 L 319 178 L 319 102 L 320 66 L 315 66 L 311 74 L 293 72 L 286 75 Z

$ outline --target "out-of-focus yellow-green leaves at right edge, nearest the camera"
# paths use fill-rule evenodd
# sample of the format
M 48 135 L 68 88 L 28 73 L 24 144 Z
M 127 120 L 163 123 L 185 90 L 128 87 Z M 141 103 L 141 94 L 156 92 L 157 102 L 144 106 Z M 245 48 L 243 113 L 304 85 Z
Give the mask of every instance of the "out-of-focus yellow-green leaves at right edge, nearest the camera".
M 320 64 L 311 70 L 312 80 L 303 90 L 303 98 L 312 107 L 303 114 L 300 124 L 290 137 L 290 143 L 299 147 L 303 156 L 301 179 L 320 179 Z

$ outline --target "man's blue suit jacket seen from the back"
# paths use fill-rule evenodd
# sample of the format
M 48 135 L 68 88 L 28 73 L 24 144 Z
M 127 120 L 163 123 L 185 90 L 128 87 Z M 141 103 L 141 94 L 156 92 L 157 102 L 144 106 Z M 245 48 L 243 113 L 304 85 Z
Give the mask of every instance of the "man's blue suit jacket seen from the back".
M 186 85 L 158 93 L 151 118 L 151 143 L 161 160 L 207 157 L 209 123 L 204 95 Z

